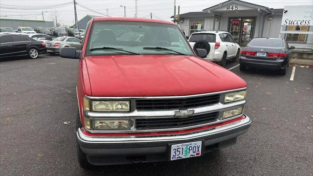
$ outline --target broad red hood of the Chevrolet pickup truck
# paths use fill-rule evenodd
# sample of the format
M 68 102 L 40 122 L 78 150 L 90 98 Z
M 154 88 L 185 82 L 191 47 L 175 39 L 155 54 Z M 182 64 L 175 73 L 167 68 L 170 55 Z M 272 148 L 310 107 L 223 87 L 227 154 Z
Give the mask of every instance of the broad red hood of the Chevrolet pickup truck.
M 245 88 L 236 74 L 195 56 L 87 56 L 92 96 L 178 96 Z

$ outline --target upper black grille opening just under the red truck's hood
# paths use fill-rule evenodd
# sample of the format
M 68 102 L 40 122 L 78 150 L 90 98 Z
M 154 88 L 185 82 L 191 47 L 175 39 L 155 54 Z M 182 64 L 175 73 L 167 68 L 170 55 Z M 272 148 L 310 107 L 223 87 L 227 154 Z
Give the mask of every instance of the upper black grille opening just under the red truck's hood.
M 219 94 L 181 99 L 136 100 L 136 109 L 137 110 L 184 109 L 212 105 L 218 103 L 219 101 L 220 101 Z

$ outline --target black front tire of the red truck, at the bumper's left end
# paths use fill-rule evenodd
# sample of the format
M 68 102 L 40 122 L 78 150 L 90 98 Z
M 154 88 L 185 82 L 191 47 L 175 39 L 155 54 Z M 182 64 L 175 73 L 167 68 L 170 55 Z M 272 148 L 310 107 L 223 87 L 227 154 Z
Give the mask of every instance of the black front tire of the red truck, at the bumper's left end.
M 82 128 L 82 127 L 83 125 L 82 125 L 82 122 L 80 121 L 79 110 L 78 110 L 77 115 L 76 115 L 76 129 Z M 76 138 L 76 146 L 77 146 L 77 158 L 78 158 L 78 163 L 80 167 L 85 170 L 93 169 L 94 166 L 88 162 L 86 154 L 80 149 L 77 138 Z

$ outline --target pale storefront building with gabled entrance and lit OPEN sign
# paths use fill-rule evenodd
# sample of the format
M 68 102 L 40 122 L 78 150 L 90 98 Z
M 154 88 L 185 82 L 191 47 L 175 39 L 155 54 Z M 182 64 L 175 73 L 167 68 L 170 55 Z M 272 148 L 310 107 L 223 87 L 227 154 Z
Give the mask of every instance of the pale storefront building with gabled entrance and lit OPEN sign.
M 256 37 L 280 36 L 298 50 L 312 50 L 312 33 L 280 35 L 283 13 L 284 9 L 272 9 L 241 0 L 228 0 L 203 9 L 201 12 L 180 14 L 179 26 L 185 30 L 187 36 L 200 30 L 225 30 L 231 33 L 237 43 L 242 46 Z M 283 26 L 282 30 L 312 32 L 313 27 L 289 25 Z

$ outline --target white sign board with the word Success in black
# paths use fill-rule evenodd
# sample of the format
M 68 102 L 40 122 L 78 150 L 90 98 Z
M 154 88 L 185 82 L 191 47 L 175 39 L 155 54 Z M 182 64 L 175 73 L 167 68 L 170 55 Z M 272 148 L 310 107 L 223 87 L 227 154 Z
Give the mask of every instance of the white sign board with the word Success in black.
M 313 5 L 285 6 L 281 25 L 313 25 Z

